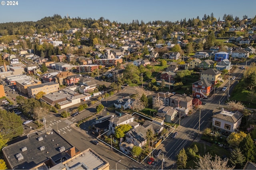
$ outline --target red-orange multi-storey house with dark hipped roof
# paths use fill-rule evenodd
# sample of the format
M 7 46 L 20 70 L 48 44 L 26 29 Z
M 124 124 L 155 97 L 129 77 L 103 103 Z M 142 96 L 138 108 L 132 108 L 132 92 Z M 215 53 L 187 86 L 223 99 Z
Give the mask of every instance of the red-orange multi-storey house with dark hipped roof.
M 203 78 L 192 84 L 192 95 L 199 98 L 207 98 L 214 89 L 214 82 Z

